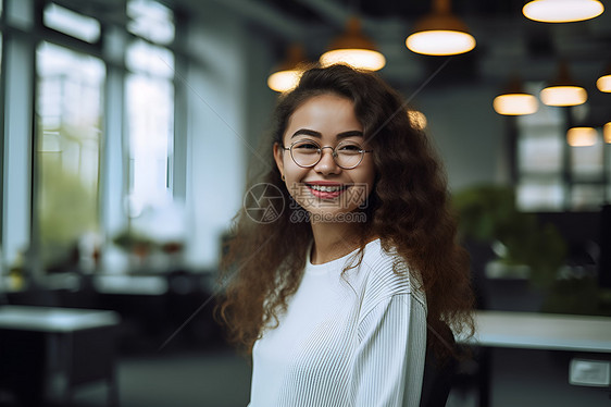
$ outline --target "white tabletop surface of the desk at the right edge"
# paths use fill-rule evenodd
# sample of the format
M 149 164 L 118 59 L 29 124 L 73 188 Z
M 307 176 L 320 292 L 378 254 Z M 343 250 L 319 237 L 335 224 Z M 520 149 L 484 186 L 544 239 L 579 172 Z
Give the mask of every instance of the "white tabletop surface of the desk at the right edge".
M 474 345 L 611 353 L 611 318 L 476 311 Z M 460 338 L 459 338 L 459 342 Z

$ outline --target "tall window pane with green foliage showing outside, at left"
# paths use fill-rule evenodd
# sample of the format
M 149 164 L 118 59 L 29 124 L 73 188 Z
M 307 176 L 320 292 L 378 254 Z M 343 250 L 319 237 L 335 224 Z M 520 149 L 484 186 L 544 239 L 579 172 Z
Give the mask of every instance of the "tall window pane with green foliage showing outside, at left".
M 104 64 L 42 42 L 37 49 L 36 207 L 45 267 L 78 260 L 98 232 L 98 180 Z

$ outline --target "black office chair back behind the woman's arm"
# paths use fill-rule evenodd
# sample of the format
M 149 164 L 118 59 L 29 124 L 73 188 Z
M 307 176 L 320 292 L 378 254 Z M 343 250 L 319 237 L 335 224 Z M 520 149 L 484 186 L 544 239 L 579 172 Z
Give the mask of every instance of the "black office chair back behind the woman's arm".
M 431 334 L 438 336 L 440 341 L 444 341 L 452 348 L 456 347 L 454 335 L 446 323 L 436 332 L 432 332 L 429 328 Z M 449 356 L 447 360 L 440 361 L 432 349 L 426 349 L 420 407 L 446 406 L 457 368 L 458 362 L 453 356 Z

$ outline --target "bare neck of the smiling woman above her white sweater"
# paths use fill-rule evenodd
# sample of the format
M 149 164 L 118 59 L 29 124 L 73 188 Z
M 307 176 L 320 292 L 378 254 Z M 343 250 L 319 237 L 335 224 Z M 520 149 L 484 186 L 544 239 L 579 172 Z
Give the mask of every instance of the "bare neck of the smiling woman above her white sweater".
M 356 250 L 361 245 L 361 233 L 356 223 L 312 222 L 312 263 L 326 263 Z

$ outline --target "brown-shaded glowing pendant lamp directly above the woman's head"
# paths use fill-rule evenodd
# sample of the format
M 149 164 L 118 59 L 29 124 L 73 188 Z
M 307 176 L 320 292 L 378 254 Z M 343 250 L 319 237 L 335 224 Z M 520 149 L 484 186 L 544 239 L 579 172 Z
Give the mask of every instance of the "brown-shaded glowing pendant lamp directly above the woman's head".
M 321 55 L 323 66 L 345 63 L 357 69 L 378 71 L 386 65 L 386 58 L 377 51 L 371 39 L 361 32 L 358 17 L 348 21 L 346 33 L 332 42 L 329 50 Z

